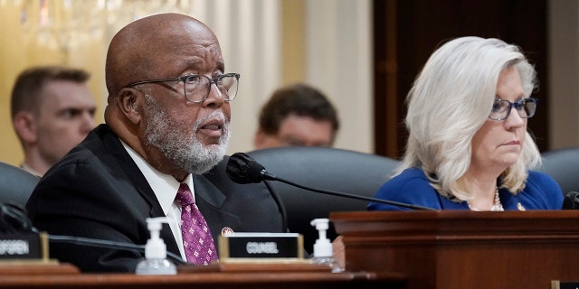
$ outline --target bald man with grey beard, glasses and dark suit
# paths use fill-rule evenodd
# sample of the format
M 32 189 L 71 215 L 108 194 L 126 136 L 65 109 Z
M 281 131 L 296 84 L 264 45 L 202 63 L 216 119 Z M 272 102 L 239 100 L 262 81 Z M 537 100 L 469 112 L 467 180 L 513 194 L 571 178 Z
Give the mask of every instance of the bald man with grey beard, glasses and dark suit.
M 225 174 L 239 75 L 224 72 L 208 27 L 181 14 L 129 23 L 112 39 L 105 71 L 106 124 L 43 176 L 26 205 L 35 227 L 143 245 L 146 219 L 167 217 L 175 222 L 161 238 L 168 251 L 188 259 L 176 200 L 186 184 L 215 246 L 225 231 L 286 231 L 272 192 Z M 55 242 L 50 252 L 85 272 L 134 272 L 143 259 L 138 251 Z

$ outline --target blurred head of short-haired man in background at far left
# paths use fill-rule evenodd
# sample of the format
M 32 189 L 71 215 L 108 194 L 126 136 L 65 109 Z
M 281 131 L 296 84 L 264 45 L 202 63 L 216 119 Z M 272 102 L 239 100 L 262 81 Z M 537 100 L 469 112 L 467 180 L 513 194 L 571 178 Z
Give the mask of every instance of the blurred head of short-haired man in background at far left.
M 18 76 L 11 110 L 24 170 L 42 176 L 95 126 L 89 78 L 84 70 L 60 66 L 33 67 Z

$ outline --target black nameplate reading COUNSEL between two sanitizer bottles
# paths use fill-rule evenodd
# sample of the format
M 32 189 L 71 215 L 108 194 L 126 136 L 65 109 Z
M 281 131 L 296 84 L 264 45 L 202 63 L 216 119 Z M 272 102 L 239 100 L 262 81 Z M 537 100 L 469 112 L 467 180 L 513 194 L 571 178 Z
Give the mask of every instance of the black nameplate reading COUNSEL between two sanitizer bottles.
M 219 258 L 302 259 L 303 237 L 296 233 L 233 233 L 220 236 Z

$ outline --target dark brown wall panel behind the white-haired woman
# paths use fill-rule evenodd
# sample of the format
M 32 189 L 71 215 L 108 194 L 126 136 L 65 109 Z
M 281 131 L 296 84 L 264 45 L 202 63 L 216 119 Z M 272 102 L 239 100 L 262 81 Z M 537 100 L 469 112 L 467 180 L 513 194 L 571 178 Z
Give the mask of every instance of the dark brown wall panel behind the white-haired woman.
M 549 148 L 547 10 L 544 0 L 374 1 L 375 152 L 403 155 L 404 99 L 413 79 L 441 42 L 460 36 L 496 37 L 517 44 L 535 64 L 539 89 L 528 129 L 541 151 Z

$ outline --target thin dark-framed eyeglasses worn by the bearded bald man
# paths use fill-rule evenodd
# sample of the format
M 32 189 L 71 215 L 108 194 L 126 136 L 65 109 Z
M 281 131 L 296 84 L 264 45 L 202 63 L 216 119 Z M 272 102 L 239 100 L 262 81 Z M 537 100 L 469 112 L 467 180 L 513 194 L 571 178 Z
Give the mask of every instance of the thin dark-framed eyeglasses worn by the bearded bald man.
M 237 96 L 239 87 L 239 73 L 225 73 L 218 77 L 210 79 L 201 74 L 189 74 L 174 79 L 152 79 L 142 80 L 129 84 L 127 87 L 132 88 L 139 84 L 156 83 L 156 82 L 183 82 L 183 92 L 185 98 L 190 102 L 202 103 L 209 96 L 211 85 L 215 84 L 225 101 L 232 101 Z

